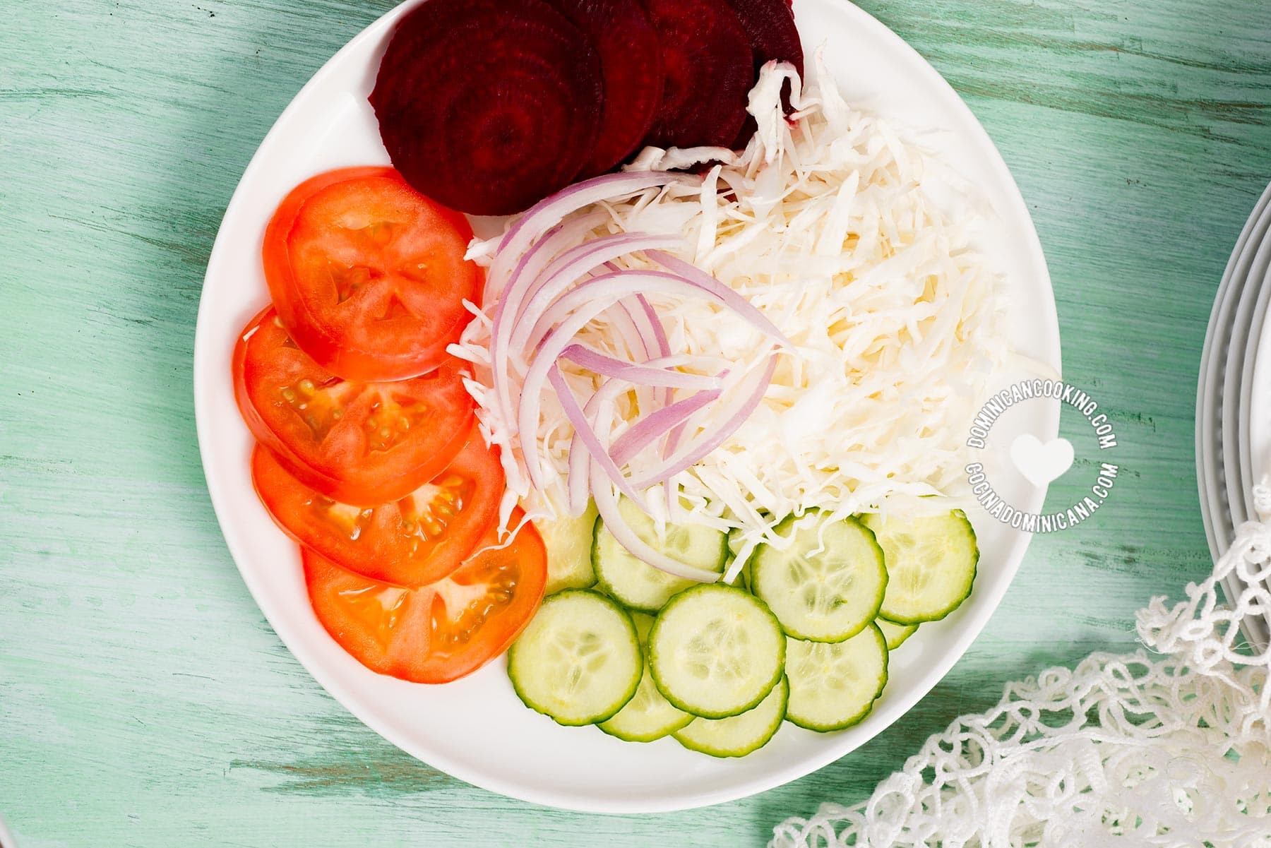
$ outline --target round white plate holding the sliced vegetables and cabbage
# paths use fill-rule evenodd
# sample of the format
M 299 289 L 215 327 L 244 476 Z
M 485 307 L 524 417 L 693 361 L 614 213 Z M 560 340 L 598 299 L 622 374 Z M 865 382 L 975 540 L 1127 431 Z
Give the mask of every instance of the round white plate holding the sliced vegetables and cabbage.
M 991 205 L 998 220 L 979 247 L 1007 280 L 1016 315 L 1012 338 L 1057 374 L 1059 325 L 1037 234 L 975 117 L 918 53 L 855 6 L 796 0 L 794 10 L 805 44 L 810 51 L 826 44 L 831 72 L 849 99 L 914 130 L 930 130 L 924 144 Z M 501 662 L 444 687 L 379 676 L 341 651 L 310 612 L 295 547 L 252 491 L 250 436 L 234 404 L 230 353 L 241 327 L 267 300 L 259 245 L 278 200 L 323 169 L 388 160 L 366 95 L 400 14 L 389 13 L 351 41 L 282 113 L 230 201 L 208 264 L 194 346 L 200 448 L 225 540 L 253 596 L 291 652 L 370 727 L 436 768 L 519 798 L 591 811 L 676 810 L 760 792 L 843 756 L 902 716 L 966 651 L 1014 576 L 1026 534 L 980 521 L 975 592 L 897 651 L 887 689 L 864 722 L 831 735 L 785 726 L 766 748 L 736 760 L 694 754 L 672 740 L 637 745 L 592 727 L 559 727 L 520 704 Z M 1057 403 L 1024 404 L 998 422 L 995 441 L 1009 445 L 1013 432 L 1024 431 L 1050 439 L 1057 422 Z M 994 482 L 1022 510 L 1036 511 L 1045 497 L 1043 488 L 1018 475 Z

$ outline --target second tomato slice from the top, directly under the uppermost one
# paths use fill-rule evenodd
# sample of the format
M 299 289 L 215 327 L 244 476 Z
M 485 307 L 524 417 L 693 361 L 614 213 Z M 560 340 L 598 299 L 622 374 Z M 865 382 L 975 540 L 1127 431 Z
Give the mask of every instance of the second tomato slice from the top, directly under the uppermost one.
M 301 482 L 358 506 L 403 498 L 455 458 L 473 422 L 461 376 L 450 360 L 411 380 L 343 380 L 292 343 L 272 308 L 234 350 L 234 392 L 252 434 Z

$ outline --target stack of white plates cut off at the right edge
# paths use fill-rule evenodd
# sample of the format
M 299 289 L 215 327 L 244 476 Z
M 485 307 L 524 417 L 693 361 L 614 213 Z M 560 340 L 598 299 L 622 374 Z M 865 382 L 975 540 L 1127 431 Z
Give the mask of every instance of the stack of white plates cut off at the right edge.
M 1196 395 L 1196 469 L 1200 510 L 1216 559 L 1235 528 L 1257 520 L 1253 486 L 1271 475 L 1271 186 L 1240 231 L 1218 287 L 1205 334 Z M 1244 586 L 1235 575 L 1229 601 Z M 1268 643 L 1271 619 L 1248 618 L 1244 633 Z

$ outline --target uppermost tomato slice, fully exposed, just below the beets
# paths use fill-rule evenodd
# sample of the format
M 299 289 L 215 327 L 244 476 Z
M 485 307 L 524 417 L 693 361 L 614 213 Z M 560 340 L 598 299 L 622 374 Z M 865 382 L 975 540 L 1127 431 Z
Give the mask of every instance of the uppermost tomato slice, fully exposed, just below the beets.
M 446 360 L 478 300 L 472 226 L 391 168 L 305 181 L 264 231 L 264 278 L 300 350 L 348 380 L 403 380 Z

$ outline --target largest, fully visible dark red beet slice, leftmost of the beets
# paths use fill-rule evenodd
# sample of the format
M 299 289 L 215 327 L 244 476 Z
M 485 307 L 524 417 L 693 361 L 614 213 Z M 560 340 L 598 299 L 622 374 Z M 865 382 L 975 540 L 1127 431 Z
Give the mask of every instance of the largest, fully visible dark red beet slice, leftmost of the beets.
M 370 97 L 411 186 L 511 215 L 569 184 L 600 131 L 600 57 L 545 0 L 428 0 L 402 18 Z

